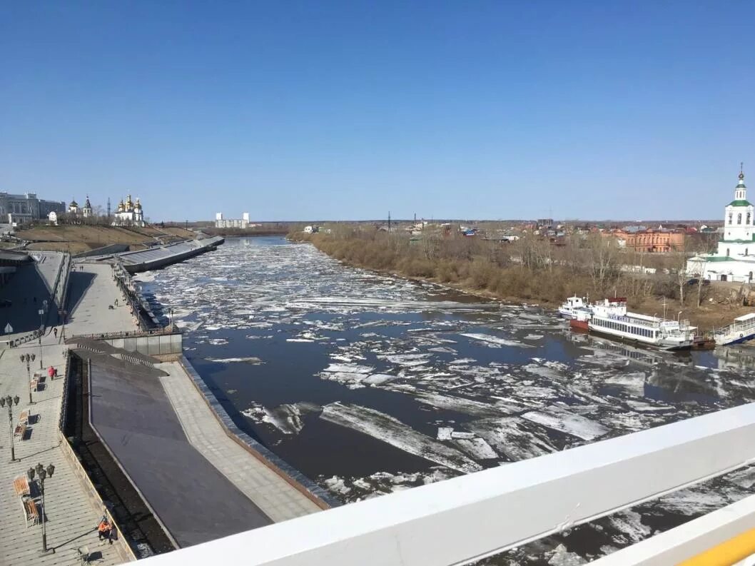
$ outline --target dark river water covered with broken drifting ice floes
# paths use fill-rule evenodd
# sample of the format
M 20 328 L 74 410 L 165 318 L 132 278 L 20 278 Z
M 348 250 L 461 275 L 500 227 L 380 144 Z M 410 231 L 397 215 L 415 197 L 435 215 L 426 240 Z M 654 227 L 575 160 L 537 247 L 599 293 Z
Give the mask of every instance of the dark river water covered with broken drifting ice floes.
M 230 239 L 143 278 L 239 426 L 344 501 L 753 399 L 747 349 L 595 340 L 537 307 L 352 269 L 278 237 Z M 744 497 L 749 474 L 490 563 L 594 558 Z

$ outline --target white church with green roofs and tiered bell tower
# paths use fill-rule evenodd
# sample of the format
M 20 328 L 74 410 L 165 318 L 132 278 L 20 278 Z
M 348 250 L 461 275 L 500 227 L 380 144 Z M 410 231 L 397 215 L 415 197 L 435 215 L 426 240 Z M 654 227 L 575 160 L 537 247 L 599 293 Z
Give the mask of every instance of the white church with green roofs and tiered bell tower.
M 687 261 L 690 276 L 710 281 L 753 281 L 755 274 L 755 217 L 747 201 L 744 173 L 734 188 L 734 200 L 726 205 L 723 237 L 714 254 L 701 254 Z

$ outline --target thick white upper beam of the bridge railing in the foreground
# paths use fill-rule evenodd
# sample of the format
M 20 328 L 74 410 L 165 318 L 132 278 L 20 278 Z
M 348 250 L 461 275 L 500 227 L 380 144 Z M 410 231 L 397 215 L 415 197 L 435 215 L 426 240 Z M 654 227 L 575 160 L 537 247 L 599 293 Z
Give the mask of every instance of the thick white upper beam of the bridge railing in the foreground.
M 755 404 L 273 524 L 147 558 L 145 566 L 467 564 L 753 460 Z M 699 540 L 672 540 L 663 550 L 661 561 L 612 564 L 674 564 L 701 548 Z

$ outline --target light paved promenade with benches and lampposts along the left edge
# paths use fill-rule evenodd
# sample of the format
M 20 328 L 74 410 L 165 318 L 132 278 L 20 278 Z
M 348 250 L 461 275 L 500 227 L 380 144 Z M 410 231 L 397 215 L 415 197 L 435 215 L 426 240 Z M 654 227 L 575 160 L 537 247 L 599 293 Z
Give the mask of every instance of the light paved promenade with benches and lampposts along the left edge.
M 88 277 L 90 285 L 82 286 L 79 297 L 69 303 L 72 324 L 66 328 L 66 332 L 84 334 L 93 331 L 135 330 L 136 326 L 131 321 L 128 309 L 111 311 L 103 306 L 102 301 L 105 301 L 105 304 L 108 301 L 112 303 L 119 295 L 118 288 L 109 276 L 109 266 L 86 268 L 87 270 L 81 273 L 93 276 Z M 79 283 L 84 281 L 83 278 L 79 278 Z M 13 280 L 9 281 L 8 287 L 12 285 Z M 106 312 L 106 315 L 94 316 L 94 310 L 98 305 L 97 312 Z M 39 327 L 39 319 L 36 324 Z M 59 339 L 60 332 L 56 340 L 54 334 L 48 331 L 42 338 L 42 356 L 45 368 L 53 365 L 59 371 L 63 371 L 64 346 L 59 343 Z M 101 566 L 119 564 L 121 560 L 116 552 L 116 545 L 109 546 L 98 542 L 97 523 L 100 521 L 100 509 L 94 509 L 89 503 L 85 489 L 74 475 L 72 464 L 64 457 L 63 449 L 60 448 L 57 425 L 63 380 L 48 380 L 45 389 L 32 393 L 35 405 L 29 407 L 26 364 L 21 365 L 19 361 L 19 356 L 26 352 L 39 356 L 38 343 L 0 350 L 0 395 L 20 397 L 19 405 L 13 410 L 14 423 L 17 423 L 18 415 L 24 409 L 31 408 L 32 414 L 37 416 L 30 426 L 30 435 L 27 432 L 28 439 L 15 442 L 17 461 L 11 463 L 8 409 L 0 408 L 0 564 L 79 564 L 76 549 L 80 546 L 88 546 L 91 552 L 99 552 L 101 559 L 96 563 Z M 32 366 L 32 371 L 39 371 L 39 357 L 32 362 Z M 46 555 L 39 554 L 42 550 L 42 527 L 34 525 L 26 528 L 20 500 L 13 489 L 13 479 L 17 475 L 25 474 L 29 467 L 36 466 L 37 463 L 45 466 L 52 463 L 55 466 L 53 477 L 45 481 L 48 548 L 54 548 L 55 552 Z

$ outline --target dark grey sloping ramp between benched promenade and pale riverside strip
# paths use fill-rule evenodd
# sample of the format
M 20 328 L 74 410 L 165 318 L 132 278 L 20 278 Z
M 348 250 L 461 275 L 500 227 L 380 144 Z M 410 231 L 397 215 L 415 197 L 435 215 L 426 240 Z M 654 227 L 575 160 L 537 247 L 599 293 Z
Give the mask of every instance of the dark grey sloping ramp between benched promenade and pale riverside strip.
M 165 373 L 94 354 L 91 426 L 177 545 L 270 524 L 270 518 L 186 438 L 152 372 Z

